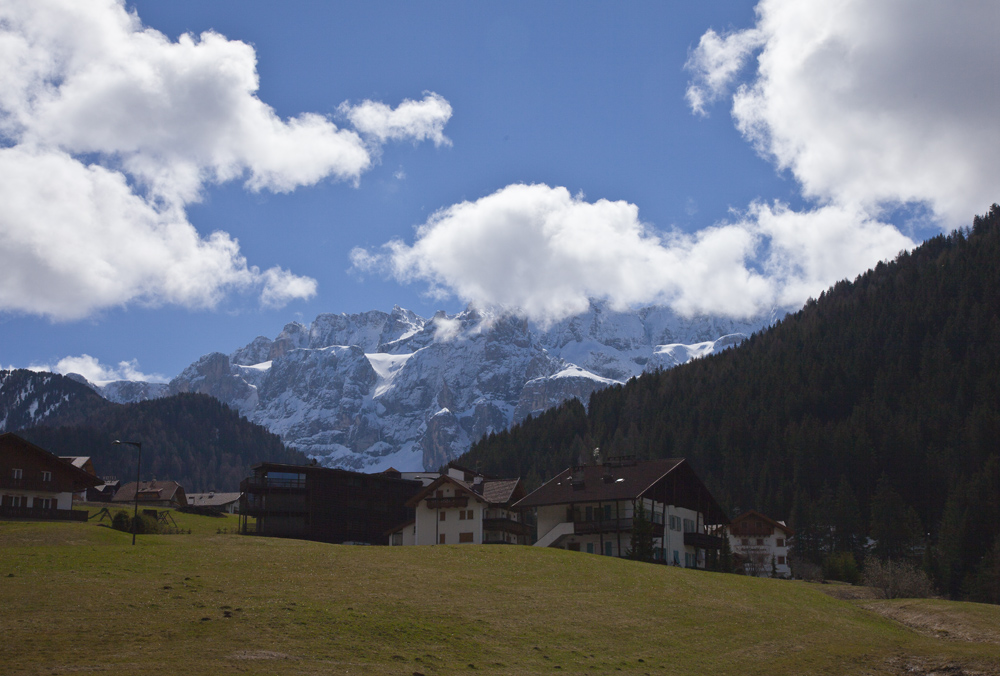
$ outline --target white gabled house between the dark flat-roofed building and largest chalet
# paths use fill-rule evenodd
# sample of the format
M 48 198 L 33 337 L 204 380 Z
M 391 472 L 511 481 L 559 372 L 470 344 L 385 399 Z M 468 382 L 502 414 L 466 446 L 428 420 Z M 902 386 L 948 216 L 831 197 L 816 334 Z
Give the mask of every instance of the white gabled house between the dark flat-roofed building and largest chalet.
M 520 479 L 497 479 L 449 464 L 406 503 L 414 518 L 389 532 L 390 545 L 528 544 L 531 528 L 514 503 Z

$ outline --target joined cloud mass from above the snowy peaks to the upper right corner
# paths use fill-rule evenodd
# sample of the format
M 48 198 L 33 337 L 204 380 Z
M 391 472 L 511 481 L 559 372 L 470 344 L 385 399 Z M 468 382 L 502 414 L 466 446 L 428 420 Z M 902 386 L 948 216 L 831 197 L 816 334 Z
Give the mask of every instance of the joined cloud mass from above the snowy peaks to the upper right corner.
M 623 202 L 508 186 L 442 209 L 412 243 L 355 250 L 360 269 L 536 319 L 665 302 L 749 315 L 818 295 L 915 242 L 900 207 L 950 229 L 998 199 L 1000 5 L 762 0 L 744 30 L 691 51 L 696 115 L 728 100 L 736 127 L 798 182 L 806 207 L 766 196 L 694 234 Z

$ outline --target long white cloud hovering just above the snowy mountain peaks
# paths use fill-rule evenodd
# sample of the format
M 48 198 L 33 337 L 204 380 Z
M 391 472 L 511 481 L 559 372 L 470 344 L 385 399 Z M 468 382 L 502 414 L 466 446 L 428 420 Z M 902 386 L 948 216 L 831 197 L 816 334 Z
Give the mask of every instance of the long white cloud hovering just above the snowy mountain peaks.
M 585 311 L 590 298 L 749 316 L 802 303 L 908 246 L 891 226 L 833 207 L 803 215 L 755 204 L 735 223 L 689 235 L 657 232 L 627 202 L 510 185 L 438 211 L 412 245 L 358 248 L 351 259 L 359 270 L 426 282 L 432 294 L 517 308 L 547 322 Z

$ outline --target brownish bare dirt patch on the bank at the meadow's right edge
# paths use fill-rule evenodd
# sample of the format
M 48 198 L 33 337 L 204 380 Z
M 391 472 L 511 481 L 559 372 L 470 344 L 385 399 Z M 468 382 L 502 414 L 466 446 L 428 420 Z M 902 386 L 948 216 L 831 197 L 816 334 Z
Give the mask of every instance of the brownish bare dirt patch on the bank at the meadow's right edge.
M 861 607 L 895 620 L 925 636 L 1000 645 L 1000 608 L 936 599 L 899 599 Z

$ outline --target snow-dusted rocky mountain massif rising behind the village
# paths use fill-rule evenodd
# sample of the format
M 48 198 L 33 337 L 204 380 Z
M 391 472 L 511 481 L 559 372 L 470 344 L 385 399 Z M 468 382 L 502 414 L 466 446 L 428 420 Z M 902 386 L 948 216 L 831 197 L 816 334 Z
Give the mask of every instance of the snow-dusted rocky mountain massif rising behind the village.
M 600 303 L 548 327 L 471 307 L 430 319 L 400 307 L 324 314 L 206 355 L 161 387 L 217 397 L 324 465 L 430 470 L 529 414 L 572 397 L 586 403 L 596 389 L 711 354 L 773 319 Z M 125 392 L 116 386 L 116 396 Z

